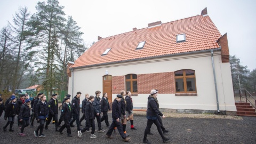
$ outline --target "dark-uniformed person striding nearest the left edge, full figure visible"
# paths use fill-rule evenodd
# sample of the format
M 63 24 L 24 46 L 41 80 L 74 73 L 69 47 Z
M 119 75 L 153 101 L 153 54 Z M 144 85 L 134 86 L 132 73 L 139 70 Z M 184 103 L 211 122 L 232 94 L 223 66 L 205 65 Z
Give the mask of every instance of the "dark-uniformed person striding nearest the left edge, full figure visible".
M 14 132 L 12 126 L 14 124 L 14 117 L 18 115 L 18 105 L 16 103 L 17 99 L 15 96 L 12 96 L 10 99 L 9 104 L 7 104 L 5 113 L 4 113 L 4 120 L 8 118 L 7 124 L 3 127 L 4 132 L 6 132 L 6 127 L 10 124 L 10 132 Z

